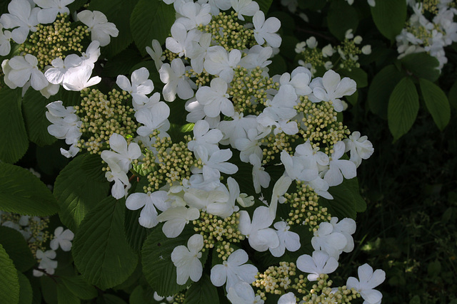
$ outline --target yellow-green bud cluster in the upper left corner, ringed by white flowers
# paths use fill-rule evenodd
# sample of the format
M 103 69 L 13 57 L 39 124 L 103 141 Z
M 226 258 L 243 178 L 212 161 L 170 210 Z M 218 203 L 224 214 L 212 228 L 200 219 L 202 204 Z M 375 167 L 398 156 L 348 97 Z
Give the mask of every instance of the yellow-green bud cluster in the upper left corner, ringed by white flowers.
M 19 53 L 34 55 L 38 58 L 39 69 L 44 70 L 57 57 L 64 59 L 69 53 L 81 53 L 84 50 L 81 42 L 88 36 L 87 26 L 72 28 L 69 17 L 59 14 L 54 23 L 37 25 L 36 32 L 19 46 Z

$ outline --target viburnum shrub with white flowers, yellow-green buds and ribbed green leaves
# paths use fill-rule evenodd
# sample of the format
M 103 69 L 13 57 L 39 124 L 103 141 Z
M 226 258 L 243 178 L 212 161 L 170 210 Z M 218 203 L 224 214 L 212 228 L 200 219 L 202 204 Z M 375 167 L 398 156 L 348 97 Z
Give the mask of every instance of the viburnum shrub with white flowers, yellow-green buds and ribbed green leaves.
M 271 1 L 111 2 L 12 0 L 0 17 L 0 298 L 381 303 L 381 269 L 331 280 L 355 246 L 357 168 L 374 151 L 342 122 L 357 92 L 345 75 L 361 75 L 374 47 L 330 22 L 340 41 L 298 41 L 288 73 Z M 398 78 L 395 139 L 408 131 L 396 125 L 403 86 L 411 102 L 418 84 L 446 127 L 429 103 L 457 40 L 455 4 L 398 1 L 398 27 L 380 19 L 391 0 L 311 2 L 281 1 L 303 22 L 301 9 L 360 5 L 395 38 L 399 58 L 373 79 Z M 392 70 L 414 60 L 433 73 Z M 37 157 L 68 159 L 54 186 L 14 165 L 29 141 L 49 145 Z

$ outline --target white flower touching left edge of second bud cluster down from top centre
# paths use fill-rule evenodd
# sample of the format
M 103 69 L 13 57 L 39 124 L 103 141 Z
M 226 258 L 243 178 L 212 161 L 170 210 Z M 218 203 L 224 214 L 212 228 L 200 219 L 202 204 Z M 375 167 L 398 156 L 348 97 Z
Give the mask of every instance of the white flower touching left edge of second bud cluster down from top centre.
M 222 114 L 233 116 L 235 110 L 233 103 L 227 94 L 227 83 L 221 78 L 211 80 L 210 87 L 203 86 L 196 93 L 196 98 L 204 105 L 204 112 L 209 117 L 216 117 Z

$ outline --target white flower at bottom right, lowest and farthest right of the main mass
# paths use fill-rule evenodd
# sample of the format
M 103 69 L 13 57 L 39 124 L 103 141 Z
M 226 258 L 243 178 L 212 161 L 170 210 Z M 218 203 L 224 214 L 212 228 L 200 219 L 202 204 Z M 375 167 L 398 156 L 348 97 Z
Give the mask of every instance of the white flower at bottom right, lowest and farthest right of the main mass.
M 368 264 L 363 264 L 358 267 L 358 281 L 354 277 L 349 277 L 346 282 L 348 289 L 354 288 L 361 294 L 363 304 L 378 304 L 381 303 L 383 295 L 378 290 L 374 290 L 376 286 L 383 283 L 386 280 L 386 273 L 381 269 L 376 269 L 373 272 L 373 268 Z

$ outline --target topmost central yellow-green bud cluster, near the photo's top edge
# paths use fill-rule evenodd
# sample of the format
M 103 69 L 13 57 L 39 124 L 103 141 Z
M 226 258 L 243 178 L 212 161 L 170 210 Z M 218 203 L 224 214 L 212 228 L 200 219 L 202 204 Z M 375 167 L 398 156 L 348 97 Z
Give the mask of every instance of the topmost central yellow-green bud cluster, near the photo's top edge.
M 256 41 L 253 38 L 253 29 L 245 28 L 243 24 L 238 23 L 238 14 L 234 11 L 231 11 L 230 15 L 221 12 L 219 15 L 213 16 L 208 25 L 200 25 L 198 29 L 199 31 L 211 33 L 211 39 L 229 52 L 234 49 L 243 50 L 256 45 Z

